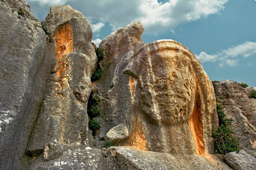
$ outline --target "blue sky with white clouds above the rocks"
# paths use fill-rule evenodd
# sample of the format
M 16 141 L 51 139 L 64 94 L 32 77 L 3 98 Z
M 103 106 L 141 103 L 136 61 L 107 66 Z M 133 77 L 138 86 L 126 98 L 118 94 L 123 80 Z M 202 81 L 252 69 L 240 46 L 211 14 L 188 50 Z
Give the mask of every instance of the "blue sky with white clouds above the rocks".
M 256 0 L 26 0 L 43 21 L 52 5 L 70 5 L 91 23 L 93 42 L 141 21 L 144 43 L 173 39 L 198 58 L 211 81 L 256 87 Z

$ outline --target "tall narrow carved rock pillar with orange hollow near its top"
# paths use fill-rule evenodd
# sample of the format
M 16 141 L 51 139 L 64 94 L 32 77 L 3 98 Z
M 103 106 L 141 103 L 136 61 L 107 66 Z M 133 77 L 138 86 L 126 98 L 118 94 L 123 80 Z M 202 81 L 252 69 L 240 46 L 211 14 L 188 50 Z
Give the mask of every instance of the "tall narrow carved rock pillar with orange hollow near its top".
M 55 44 L 56 64 L 28 142 L 30 156 L 41 154 L 53 140 L 61 143 L 88 140 L 86 109 L 97 62 L 91 44 L 91 23 L 80 12 L 68 5 L 53 6 L 43 23 Z

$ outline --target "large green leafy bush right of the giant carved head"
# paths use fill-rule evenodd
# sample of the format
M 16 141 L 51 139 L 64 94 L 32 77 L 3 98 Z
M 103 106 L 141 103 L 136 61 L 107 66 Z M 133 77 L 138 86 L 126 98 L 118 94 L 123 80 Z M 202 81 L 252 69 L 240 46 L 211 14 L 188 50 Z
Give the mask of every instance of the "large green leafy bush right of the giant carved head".
M 238 142 L 232 135 L 231 129 L 227 127 L 233 120 L 226 118 L 224 106 L 221 104 L 217 104 L 217 113 L 219 116 L 219 127 L 212 133 L 215 153 L 225 155 L 229 152 L 239 151 Z

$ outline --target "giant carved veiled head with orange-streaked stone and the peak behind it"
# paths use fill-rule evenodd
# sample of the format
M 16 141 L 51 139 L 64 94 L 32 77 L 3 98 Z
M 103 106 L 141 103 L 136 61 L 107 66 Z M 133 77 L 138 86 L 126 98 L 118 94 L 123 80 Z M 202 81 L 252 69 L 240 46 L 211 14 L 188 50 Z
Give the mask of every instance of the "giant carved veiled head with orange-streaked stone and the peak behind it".
M 212 83 L 195 56 L 173 40 L 143 44 L 140 22 L 104 39 L 95 83 L 101 99 L 101 134 L 122 124 L 129 137 L 119 145 L 177 154 L 213 153 L 218 125 Z M 114 87 L 110 89 L 110 85 Z

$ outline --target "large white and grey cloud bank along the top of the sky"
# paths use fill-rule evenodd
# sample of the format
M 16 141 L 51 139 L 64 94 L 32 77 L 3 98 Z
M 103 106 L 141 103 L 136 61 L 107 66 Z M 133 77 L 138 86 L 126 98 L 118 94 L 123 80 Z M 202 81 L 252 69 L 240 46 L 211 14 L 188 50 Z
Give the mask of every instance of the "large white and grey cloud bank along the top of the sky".
M 89 20 L 108 22 L 112 31 L 141 21 L 145 33 L 157 34 L 178 25 L 219 13 L 228 0 L 28 0 L 41 5 L 69 4 Z M 38 12 L 39 13 L 39 12 Z M 36 14 L 35 14 L 36 15 Z M 45 14 L 46 16 L 47 14 Z M 45 17 L 44 16 L 44 17 Z M 43 17 L 42 17 L 43 18 Z

